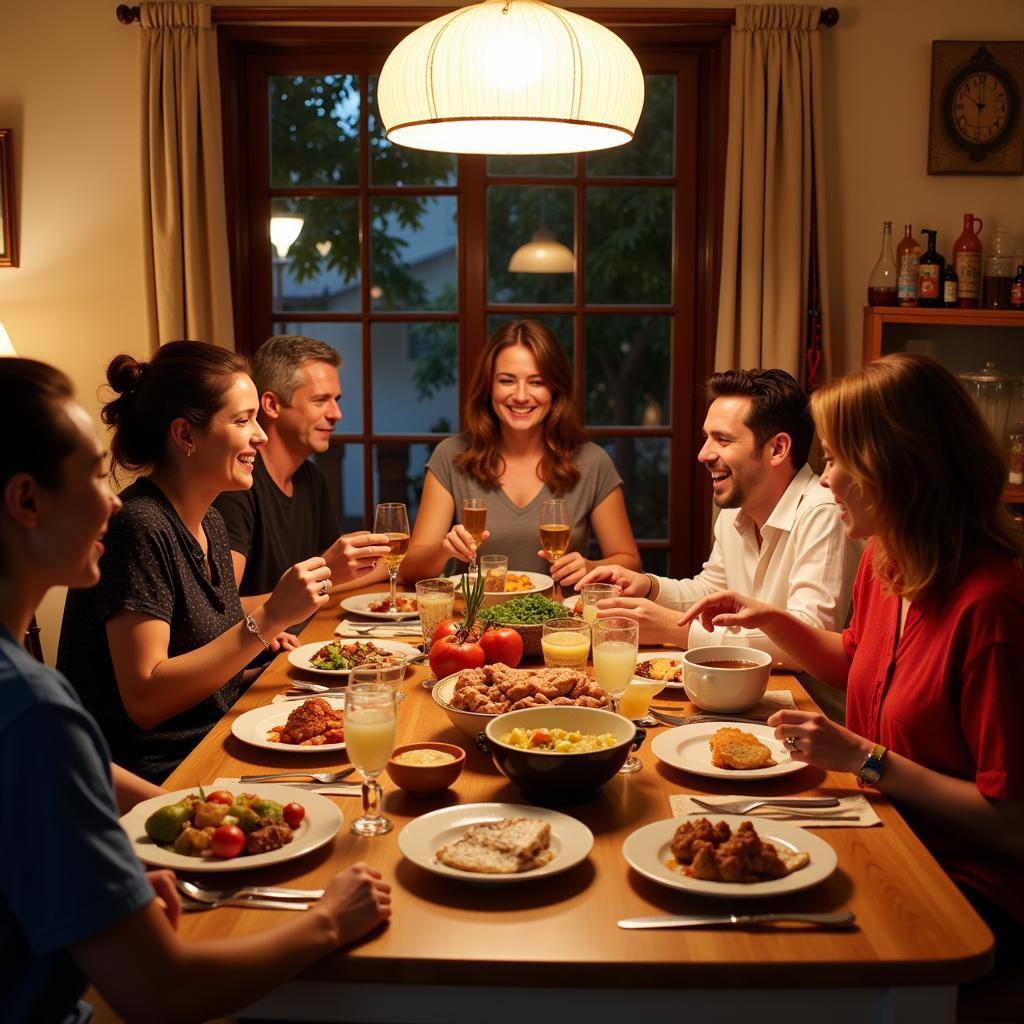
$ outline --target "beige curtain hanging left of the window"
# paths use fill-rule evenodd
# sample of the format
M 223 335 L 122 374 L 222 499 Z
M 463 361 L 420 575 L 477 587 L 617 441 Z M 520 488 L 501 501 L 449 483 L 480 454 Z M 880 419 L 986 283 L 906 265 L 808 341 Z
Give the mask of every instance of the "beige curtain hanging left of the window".
M 150 3 L 142 25 L 145 283 L 154 345 L 234 347 L 217 43 L 206 3 Z

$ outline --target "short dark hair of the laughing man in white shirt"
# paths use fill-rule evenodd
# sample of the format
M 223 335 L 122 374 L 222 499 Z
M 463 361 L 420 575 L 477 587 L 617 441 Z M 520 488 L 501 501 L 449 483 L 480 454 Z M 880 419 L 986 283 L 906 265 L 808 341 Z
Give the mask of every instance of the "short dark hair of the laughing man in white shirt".
M 790 458 L 800 469 L 811 451 L 814 423 L 804 389 L 784 370 L 723 370 L 708 379 L 709 401 L 740 395 L 751 399 L 746 426 L 763 447 L 775 434 L 788 434 Z

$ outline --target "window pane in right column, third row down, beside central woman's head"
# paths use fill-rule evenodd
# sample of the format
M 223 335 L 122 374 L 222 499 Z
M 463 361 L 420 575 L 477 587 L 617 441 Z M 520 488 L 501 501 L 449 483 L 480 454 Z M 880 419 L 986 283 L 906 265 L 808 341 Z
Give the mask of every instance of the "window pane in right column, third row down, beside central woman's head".
M 669 423 L 670 316 L 588 316 L 587 423 L 656 427 Z

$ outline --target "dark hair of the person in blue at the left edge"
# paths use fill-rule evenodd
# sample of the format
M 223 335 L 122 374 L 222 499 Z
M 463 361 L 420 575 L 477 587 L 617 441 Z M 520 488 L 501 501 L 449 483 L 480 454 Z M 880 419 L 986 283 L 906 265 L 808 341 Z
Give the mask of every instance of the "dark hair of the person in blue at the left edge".
M 63 479 L 63 462 L 78 431 L 62 406 L 74 397 L 71 381 L 36 359 L 0 358 L 0 486 L 29 473 L 49 490 Z

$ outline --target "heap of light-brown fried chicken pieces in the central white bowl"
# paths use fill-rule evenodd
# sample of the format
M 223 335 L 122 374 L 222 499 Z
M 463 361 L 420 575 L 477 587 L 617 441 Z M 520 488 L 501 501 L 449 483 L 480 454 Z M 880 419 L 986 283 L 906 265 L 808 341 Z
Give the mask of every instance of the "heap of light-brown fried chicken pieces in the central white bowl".
M 453 708 L 482 715 L 548 705 L 607 708 L 608 694 L 577 669 L 510 669 L 501 663 L 467 669 L 452 694 Z

